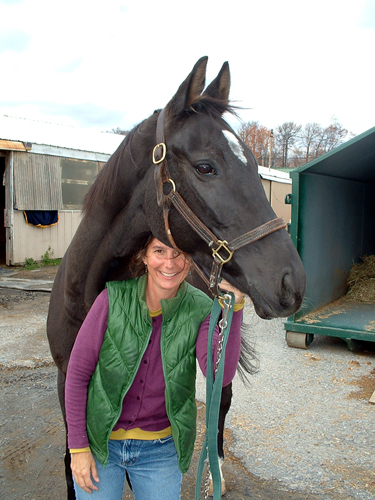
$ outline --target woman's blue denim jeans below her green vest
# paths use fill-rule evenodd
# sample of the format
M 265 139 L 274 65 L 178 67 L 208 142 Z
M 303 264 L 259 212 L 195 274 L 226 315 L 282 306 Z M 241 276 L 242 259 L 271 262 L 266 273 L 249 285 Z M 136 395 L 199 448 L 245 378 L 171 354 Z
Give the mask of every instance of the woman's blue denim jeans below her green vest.
M 95 458 L 98 491 L 86 493 L 74 484 L 77 500 L 121 500 L 127 472 L 135 500 L 180 500 L 182 475 L 172 436 L 154 441 L 109 441 L 109 460 Z

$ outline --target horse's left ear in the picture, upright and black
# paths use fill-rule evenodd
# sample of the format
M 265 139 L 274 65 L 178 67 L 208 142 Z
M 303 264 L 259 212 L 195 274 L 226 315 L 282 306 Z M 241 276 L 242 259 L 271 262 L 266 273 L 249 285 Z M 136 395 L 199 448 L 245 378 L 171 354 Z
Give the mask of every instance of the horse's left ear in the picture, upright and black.
M 190 75 L 181 83 L 176 94 L 167 104 L 168 114 L 177 115 L 198 101 L 206 81 L 207 60 L 207 56 L 201 57 Z

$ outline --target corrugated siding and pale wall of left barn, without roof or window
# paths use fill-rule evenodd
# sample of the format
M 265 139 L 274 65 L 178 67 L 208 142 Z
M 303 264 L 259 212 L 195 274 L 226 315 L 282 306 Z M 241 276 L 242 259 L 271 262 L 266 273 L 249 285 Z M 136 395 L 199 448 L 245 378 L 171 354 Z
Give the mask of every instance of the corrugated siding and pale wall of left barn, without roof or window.
M 24 264 L 27 258 L 40 261 L 49 248 L 55 258 L 62 258 L 81 221 L 80 209 L 62 209 L 61 160 L 65 157 L 27 152 L 11 155 L 6 189 L 13 203 L 8 207 L 6 263 Z M 104 165 L 95 163 L 98 169 Z M 59 222 L 47 228 L 31 226 L 23 210 L 58 210 Z

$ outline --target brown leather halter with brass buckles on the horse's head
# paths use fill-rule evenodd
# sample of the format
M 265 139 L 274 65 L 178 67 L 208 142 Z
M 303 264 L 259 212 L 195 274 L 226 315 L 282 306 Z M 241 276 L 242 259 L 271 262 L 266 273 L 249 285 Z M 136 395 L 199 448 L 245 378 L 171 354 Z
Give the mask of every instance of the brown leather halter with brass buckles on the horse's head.
M 233 253 L 239 248 L 242 248 L 246 245 L 249 245 L 250 243 L 254 243 L 255 241 L 264 238 L 268 234 L 285 228 L 286 224 L 281 218 L 276 218 L 255 229 L 252 229 L 251 231 L 243 234 L 242 236 L 239 236 L 238 238 L 235 238 L 230 243 L 228 243 L 226 240 L 219 240 L 210 231 L 210 229 L 208 229 L 208 227 L 203 224 L 203 222 L 194 214 L 194 212 L 182 199 L 181 195 L 177 192 L 176 185 L 169 175 L 166 156 L 167 146 L 164 139 L 163 109 L 158 116 L 156 125 L 156 146 L 152 154 L 152 160 L 155 164 L 154 179 L 156 186 L 156 198 L 158 205 L 162 206 L 163 208 L 165 230 L 173 248 L 179 250 L 173 239 L 169 227 L 169 211 L 170 204 L 172 203 L 173 206 L 178 210 L 178 212 L 183 216 L 185 221 L 188 222 L 188 224 L 212 250 L 213 263 L 209 280 L 207 280 L 203 271 L 197 266 L 194 261 L 193 264 L 200 277 L 209 286 L 211 293 L 215 297 L 219 297 L 222 295 L 219 291 L 219 279 L 221 270 L 223 265 L 231 260 Z

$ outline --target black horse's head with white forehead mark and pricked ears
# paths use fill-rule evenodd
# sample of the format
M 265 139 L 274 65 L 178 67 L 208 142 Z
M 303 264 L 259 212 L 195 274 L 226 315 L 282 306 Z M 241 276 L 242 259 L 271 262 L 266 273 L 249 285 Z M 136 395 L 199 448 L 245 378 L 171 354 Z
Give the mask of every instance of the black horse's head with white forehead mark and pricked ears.
M 197 62 L 164 110 L 166 158 L 176 191 L 218 239 L 231 242 L 276 216 L 254 155 L 223 119 L 231 111 L 228 63 L 204 90 L 206 64 L 207 58 Z M 149 220 L 152 232 L 168 243 L 162 217 L 154 212 Z M 207 243 L 173 207 L 169 224 L 177 246 L 209 274 Z M 285 229 L 235 251 L 222 274 L 251 297 L 262 318 L 289 316 L 302 303 L 305 274 Z

